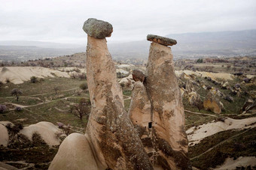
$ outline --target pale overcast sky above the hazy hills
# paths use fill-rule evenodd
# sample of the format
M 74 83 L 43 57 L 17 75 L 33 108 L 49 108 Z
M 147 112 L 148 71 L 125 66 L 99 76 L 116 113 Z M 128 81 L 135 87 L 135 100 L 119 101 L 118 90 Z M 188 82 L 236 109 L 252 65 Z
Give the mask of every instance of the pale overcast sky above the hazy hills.
M 88 18 L 114 27 L 108 42 L 147 34 L 256 28 L 255 0 L 0 0 L 0 40 L 86 42 Z

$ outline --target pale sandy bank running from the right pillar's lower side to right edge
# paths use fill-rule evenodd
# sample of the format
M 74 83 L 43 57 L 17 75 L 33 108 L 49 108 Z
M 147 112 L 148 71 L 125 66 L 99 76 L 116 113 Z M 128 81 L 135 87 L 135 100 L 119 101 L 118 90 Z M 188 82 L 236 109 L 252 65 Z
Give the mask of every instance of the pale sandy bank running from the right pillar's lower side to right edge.
M 245 118 L 245 119 L 232 119 L 227 118 L 224 122 L 217 121 L 211 122 L 208 124 L 200 125 L 199 127 L 191 127 L 186 131 L 187 139 L 189 145 L 193 146 L 199 143 L 202 139 L 207 136 L 212 136 L 215 133 L 224 131 L 224 130 L 233 130 L 233 129 L 247 129 L 250 127 L 256 127 L 256 118 Z

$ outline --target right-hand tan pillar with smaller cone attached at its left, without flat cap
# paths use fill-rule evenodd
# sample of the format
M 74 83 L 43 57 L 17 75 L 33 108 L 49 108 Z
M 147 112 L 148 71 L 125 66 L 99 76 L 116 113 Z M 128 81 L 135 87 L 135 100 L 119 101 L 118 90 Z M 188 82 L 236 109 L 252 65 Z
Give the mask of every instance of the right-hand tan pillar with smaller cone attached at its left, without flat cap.
M 134 85 L 130 118 L 151 163 L 156 169 L 191 169 L 181 92 L 169 47 L 151 43 L 146 75 L 145 88 L 142 83 Z

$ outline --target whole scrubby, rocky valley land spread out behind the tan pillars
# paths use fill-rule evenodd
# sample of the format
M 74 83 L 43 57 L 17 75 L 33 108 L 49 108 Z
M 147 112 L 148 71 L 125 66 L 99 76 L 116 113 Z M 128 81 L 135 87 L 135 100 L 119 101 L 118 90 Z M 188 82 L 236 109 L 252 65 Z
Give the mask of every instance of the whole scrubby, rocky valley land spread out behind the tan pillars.
M 123 88 L 125 109 L 128 111 L 134 86 L 133 70 L 137 69 L 145 73 L 145 66 L 116 63 L 115 67 L 118 82 Z M 83 122 L 79 122 L 79 119 L 73 115 L 67 115 L 67 110 L 70 104 L 78 103 L 78 98 L 88 98 L 88 92 L 84 91 L 80 94 L 78 92 L 79 85 L 83 81 L 79 77 L 85 73 L 85 70 L 77 67 L 55 69 L 1 67 L 0 69 L 0 79 L 7 83 L 0 88 L 0 104 L 7 106 L 6 111 L 0 113 L 0 130 L 1 134 L 5 134 L 0 140 L 2 144 L 0 161 L 18 169 L 47 169 L 56 154 L 59 142 L 66 136 L 65 130 L 60 129 L 62 127 L 59 128 L 56 123 L 59 122 L 59 118 L 62 123 L 70 124 L 73 132 L 84 133 L 87 121 L 84 119 Z M 22 75 L 22 73 L 27 74 Z M 255 169 L 256 79 L 254 75 L 242 73 L 235 76 L 230 73 L 192 70 L 176 70 L 175 74 L 182 95 L 189 157 L 194 169 Z M 31 76 L 45 80 L 33 85 L 28 82 Z M 54 79 L 58 81 L 55 82 Z M 62 84 L 58 84 L 61 79 Z M 54 82 L 52 89 L 40 90 L 47 84 L 45 81 Z M 53 86 L 56 85 L 66 86 L 56 95 L 53 91 Z M 31 87 L 33 88 L 29 92 Z M 28 92 L 27 94 L 23 92 L 23 97 L 21 96 L 20 101 L 16 102 L 15 97 L 11 97 L 10 94 L 12 88 L 23 88 Z M 17 106 L 23 108 L 23 111 L 15 111 Z M 51 115 L 41 115 L 42 110 L 47 110 Z M 59 118 L 53 117 L 53 114 L 58 114 Z M 44 116 L 50 123 L 38 124 L 45 121 Z M 63 122 L 65 118 L 69 118 L 70 121 Z M 18 127 L 17 124 L 23 124 L 23 128 Z M 47 139 L 44 133 L 37 129 L 38 126 L 40 128 L 47 126 L 47 129 L 51 130 L 47 134 L 53 134 L 53 139 Z

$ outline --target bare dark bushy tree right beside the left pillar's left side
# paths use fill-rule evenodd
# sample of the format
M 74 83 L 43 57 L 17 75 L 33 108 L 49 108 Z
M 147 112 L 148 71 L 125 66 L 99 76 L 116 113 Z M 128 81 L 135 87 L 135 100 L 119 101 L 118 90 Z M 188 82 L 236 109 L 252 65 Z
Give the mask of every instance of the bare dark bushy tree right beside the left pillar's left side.
M 81 98 L 78 104 L 72 106 L 70 113 L 82 120 L 85 115 L 90 114 L 90 100 Z

